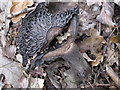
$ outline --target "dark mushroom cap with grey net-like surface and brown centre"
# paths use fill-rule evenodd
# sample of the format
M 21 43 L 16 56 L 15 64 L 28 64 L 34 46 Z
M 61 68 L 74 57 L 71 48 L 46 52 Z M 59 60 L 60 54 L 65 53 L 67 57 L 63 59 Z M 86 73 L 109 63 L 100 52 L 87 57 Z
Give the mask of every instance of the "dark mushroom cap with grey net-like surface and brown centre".
M 59 5 L 55 2 L 52 4 Z M 69 3 L 64 3 L 62 6 L 67 7 L 67 4 L 69 5 Z M 79 7 L 72 6 L 66 8 L 68 10 L 56 14 L 58 11 L 51 11 L 49 5 L 51 3 L 39 3 L 36 9 L 28 13 L 22 20 L 18 45 L 20 47 L 19 52 L 23 56 L 23 66 L 26 66 L 28 59 L 38 52 L 40 52 L 39 58 L 41 58 L 51 40 L 61 32 L 74 15 L 79 13 Z

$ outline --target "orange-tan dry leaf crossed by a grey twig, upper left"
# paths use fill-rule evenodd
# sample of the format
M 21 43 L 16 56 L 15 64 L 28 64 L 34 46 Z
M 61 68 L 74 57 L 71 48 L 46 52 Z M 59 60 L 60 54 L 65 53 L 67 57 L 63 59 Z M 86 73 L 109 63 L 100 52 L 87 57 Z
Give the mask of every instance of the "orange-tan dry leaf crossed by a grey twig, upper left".
M 20 1 L 20 0 L 12 0 L 12 4 L 13 4 L 13 6 L 10 9 L 11 14 L 20 12 L 23 9 L 27 8 L 27 6 L 31 6 L 33 4 L 33 0 L 22 0 L 22 1 Z M 19 20 L 21 20 L 21 18 L 24 18 L 25 15 L 26 15 L 26 13 L 20 14 L 20 15 L 18 15 L 16 17 L 13 17 L 12 21 L 14 23 L 16 23 Z

